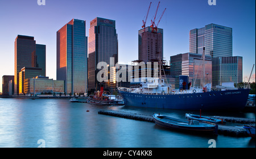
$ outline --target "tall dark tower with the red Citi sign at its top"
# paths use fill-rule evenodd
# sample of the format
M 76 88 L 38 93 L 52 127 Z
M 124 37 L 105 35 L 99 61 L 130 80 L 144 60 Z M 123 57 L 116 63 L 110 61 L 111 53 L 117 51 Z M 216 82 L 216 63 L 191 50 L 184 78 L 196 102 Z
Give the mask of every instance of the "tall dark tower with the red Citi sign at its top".
M 97 17 L 90 22 L 88 51 L 88 89 L 100 90 L 102 83 L 97 81 L 98 62 L 109 65 L 110 57 L 114 57 L 114 64 L 118 62 L 115 20 Z

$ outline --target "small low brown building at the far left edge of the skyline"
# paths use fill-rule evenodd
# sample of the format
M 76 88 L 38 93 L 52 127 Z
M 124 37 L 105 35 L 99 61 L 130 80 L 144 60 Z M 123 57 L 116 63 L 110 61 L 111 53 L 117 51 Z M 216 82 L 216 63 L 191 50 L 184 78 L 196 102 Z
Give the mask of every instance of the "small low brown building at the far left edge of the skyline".
M 11 81 L 11 89 L 9 82 Z M 3 95 L 13 95 L 14 93 L 14 76 L 4 75 L 2 77 L 2 94 Z

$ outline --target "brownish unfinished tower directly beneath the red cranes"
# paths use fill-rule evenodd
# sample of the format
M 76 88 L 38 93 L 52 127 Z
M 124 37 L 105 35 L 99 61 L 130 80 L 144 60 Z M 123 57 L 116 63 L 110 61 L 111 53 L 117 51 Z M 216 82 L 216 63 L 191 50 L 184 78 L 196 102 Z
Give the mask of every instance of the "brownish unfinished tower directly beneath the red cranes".
M 146 27 L 139 30 L 139 61 L 163 60 L 163 29 Z

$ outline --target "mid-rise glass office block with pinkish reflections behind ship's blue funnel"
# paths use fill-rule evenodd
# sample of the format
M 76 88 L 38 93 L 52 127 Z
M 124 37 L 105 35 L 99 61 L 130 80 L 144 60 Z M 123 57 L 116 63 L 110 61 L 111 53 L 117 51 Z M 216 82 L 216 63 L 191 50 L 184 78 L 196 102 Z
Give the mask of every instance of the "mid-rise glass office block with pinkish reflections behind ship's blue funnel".
M 210 56 L 205 56 L 205 75 L 203 75 L 203 58 L 199 54 L 182 53 L 171 56 L 170 65 L 170 74 L 175 78 L 175 89 L 179 89 L 179 76 L 188 76 L 188 81 L 195 87 L 212 82 L 212 60 Z

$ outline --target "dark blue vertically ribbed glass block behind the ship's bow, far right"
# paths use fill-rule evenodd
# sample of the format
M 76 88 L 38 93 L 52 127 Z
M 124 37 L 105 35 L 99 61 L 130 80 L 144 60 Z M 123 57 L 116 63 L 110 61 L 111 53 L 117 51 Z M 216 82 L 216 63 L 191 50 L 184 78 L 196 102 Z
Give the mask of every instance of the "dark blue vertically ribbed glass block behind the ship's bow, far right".
M 222 85 L 223 82 L 242 82 L 242 57 L 213 57 L 212 85 Z

